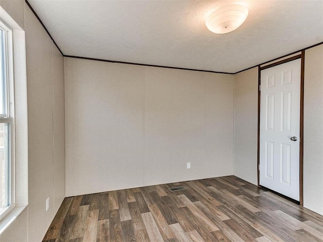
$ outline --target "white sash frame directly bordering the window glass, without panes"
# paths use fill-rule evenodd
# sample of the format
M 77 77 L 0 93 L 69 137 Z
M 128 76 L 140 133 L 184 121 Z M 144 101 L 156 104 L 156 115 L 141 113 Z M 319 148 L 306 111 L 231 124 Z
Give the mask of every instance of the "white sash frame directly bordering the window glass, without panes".
M 15 177 L 15 119 L 14 119 L 14 74 L 13 74 L 13 31 L 7 24 L 0 19 L 0 29 L 5 33 L 4 36 L 4 66 L 5 66 L 5 98 L 6 114 L 0 114 L 0 123 L 9 124 L 9 188 L 10 188 L 10 205 L 1 211 L 0 221 L 7 216 L 16 207 L 16 177 Z

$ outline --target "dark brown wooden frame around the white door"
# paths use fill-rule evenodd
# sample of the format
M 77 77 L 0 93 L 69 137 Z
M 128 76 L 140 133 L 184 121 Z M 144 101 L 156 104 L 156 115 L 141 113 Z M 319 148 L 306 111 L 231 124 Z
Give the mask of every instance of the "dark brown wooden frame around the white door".
M 292 57 L 287 57 L 281 61 L 274 62 L 265 66 L 258 65 L 258 138 L 257 138 L 257 184 L 259 184 L 259 165 L 260 165 L 260 81 L 261 81 L 261 71 L 275 67 L 287 62 L 294 61 L 295 59 L 301 58 L 301 85 L 300 85 L 300 123 L 299 123 L 299 205 L 303 206 L 303 132 L 304 132 L 304 64 L 305 64 L 305 50 L 301 50 L 300 54 L 294 55 Z M 276 193 L 284 198 L 286 196 Z M 291 201 L 295 202 L 293 199 Z

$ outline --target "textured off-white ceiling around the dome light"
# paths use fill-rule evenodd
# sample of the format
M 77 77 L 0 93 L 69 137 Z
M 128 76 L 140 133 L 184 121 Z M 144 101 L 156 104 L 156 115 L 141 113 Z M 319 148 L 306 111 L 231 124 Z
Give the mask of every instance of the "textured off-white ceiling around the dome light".
M 236 73 L 323 42 L 323 1 L 28 0 L 65 55 Z M 208 14 L 248 7 L 237 30 L 214 34 Z

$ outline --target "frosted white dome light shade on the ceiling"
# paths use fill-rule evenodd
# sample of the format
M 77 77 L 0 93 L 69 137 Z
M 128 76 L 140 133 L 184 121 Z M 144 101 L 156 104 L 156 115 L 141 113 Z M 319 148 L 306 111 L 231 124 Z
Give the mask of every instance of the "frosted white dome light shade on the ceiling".
M 245 6 L 228 5 L 211 13 L 206 18 L 205 25 L 213 33 L 229 33 L 243 24 L 248 13 Z

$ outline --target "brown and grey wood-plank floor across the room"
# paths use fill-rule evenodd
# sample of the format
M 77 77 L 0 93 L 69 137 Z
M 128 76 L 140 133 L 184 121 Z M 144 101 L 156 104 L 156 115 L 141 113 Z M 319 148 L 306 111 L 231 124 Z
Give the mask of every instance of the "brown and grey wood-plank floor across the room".
M 313 242 L 323 216 L 226 176 L 66 198 L 43 241 Z

